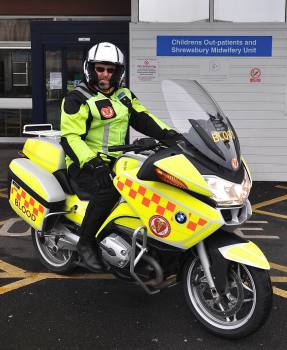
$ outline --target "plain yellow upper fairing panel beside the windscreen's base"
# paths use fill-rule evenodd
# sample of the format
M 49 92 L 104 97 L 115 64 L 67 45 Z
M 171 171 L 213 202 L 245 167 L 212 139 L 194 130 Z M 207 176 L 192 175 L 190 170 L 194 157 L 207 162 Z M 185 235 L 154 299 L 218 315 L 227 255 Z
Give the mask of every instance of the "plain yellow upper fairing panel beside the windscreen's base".
M 161 159 L 154 165 L 183 181 L 189 190 L 211 197 L 204 178 L 183 154 Z

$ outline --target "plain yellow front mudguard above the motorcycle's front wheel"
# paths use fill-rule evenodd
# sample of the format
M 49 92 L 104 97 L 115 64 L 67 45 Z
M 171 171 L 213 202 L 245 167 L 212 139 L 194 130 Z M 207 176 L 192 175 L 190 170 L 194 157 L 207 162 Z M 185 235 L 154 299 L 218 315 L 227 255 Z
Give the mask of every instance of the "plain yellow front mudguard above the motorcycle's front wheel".
M 252 242 L 232 244 L 219 248 L 225 259 L 241 264 L 270 270 L 270 265 L 262 251 Z

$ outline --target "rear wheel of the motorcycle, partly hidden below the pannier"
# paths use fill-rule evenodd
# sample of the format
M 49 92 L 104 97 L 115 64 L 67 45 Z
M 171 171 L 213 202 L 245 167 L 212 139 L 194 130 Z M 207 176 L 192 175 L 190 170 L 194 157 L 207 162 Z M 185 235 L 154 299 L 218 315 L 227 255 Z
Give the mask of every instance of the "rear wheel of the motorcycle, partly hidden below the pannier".
M 56 236 L 41 236 L 40 231 L 31 229 L 34 248 L 41 263 L 50 271 L 56 273 L 69 273 L 75 267 L 77 252 L 71 250 L 57 250 Z

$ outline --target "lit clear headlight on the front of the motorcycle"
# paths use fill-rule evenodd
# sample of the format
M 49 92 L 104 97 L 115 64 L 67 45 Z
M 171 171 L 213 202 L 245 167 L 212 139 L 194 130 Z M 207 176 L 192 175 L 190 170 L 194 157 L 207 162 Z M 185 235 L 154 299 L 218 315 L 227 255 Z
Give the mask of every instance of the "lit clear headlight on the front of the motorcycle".
M 212 192 L 211 198 L 220 206 L 242 205 L 249 196 L 251 180 L 246 170 L 244 171 L 244 179 L 241 184 L 236 184 L 214 175 L 204 175 L 203 177 L 208 184 L 209 190 Z

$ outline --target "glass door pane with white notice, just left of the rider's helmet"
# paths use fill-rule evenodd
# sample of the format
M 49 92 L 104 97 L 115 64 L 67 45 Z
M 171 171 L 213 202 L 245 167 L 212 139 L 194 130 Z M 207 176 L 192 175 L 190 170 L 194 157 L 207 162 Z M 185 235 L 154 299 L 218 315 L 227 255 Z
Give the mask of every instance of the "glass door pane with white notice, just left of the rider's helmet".
M 47 123 L 60 127 L 61 103 L 83 79 L 85 48 L 47 48 L 45 50 Z

